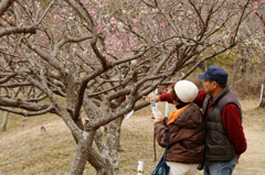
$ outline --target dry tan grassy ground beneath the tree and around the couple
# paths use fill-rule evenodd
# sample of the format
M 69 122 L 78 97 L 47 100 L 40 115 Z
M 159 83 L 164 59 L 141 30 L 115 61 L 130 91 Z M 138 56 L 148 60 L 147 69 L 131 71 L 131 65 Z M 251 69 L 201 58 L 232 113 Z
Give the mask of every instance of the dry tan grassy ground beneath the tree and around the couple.
M 236 166 L 235 175 L 265 174 L 265 109 L 258 100 L 241 101 L 247 151 Z M 161 111 L 165 103 L 159 105 Z M 174 109 L 170 107 L 170 111 Z M 145 108 L 124 121 L 119 175 L 137 174 L 137 162 L 145 162 L 145 175 L 151 173 L 153 162 L 151 111 Z M 0 112 L 0 121 L 2 113 Z M 41 127 L 46 132 L 41 132 Z M 158 157 L 162 149 L 157 145 Z M 0 175 L 64 175 L 71 168 L 75 154 L 74 140 L 63 121 L 55 116 L 41 116 L 22 122 L 22 117 L 11 114 L 8 131 L 0 132 Z M 85 175 L 95 171 L 87 165 Z M 198 173 L 198 175 L 200 175 Z

